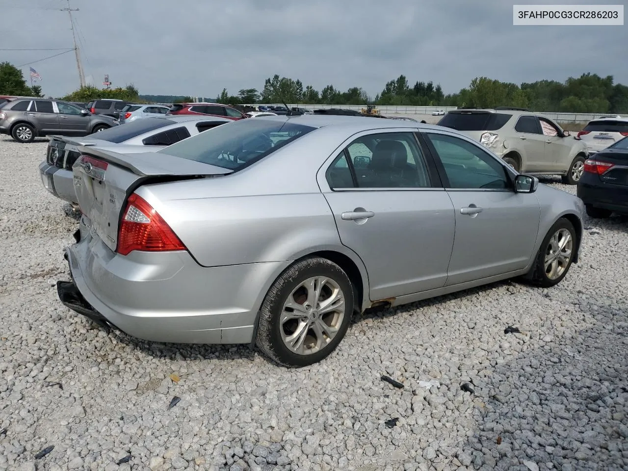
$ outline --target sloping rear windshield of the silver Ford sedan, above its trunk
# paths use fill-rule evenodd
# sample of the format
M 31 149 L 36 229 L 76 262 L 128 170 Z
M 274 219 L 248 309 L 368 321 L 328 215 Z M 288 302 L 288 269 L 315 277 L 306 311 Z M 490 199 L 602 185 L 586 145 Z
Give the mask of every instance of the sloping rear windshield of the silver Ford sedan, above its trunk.
M 158 152 L 238 171 L 314 129 L 284 121 L 242 119 L 208 129 Z

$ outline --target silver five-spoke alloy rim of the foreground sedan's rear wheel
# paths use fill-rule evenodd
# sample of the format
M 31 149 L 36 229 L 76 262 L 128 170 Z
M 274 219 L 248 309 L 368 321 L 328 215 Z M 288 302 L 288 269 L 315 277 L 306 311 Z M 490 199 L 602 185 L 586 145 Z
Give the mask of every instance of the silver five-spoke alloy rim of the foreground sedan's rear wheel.
M 346 315 L 345 295 L 327 276 L 315 276 L 290 293 L 279 317 L 281 338 L 288 349 L 311 355 L 327 347 Z

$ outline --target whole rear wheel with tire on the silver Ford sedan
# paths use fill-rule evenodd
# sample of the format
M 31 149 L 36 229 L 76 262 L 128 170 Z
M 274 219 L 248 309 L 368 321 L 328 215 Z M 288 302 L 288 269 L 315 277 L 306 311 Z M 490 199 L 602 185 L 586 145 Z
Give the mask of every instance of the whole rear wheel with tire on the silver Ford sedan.
M 337 264 L 320 257 L 296 262 L 276 279 L 264 298 L 257 347 L 288 367 L 319 362 L 347 332 L 353 293 L 349 277 Z

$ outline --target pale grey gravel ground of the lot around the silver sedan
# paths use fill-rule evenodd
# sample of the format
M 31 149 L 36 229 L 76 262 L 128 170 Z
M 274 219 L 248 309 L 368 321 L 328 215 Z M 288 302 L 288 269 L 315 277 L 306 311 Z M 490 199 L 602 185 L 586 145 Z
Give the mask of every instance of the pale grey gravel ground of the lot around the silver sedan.
M 555 288 L 372 313 L 330 358 L 289 370 L 64 308 L 53 283 L 77 221 L 41 186 L 45 146 L 0 138 L 1 471 L 628 468 L 628 219 L 588 220 Z

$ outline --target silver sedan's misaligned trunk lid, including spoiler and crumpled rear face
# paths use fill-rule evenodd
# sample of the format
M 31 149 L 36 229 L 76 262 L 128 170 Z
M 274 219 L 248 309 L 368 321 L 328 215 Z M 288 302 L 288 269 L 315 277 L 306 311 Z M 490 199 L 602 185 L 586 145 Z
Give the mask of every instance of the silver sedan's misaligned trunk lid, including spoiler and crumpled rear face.
M 132 155 L 80 146 L 72 167 L 78 205 L 92 237 L 116 250 L 126 200 L 140 185 L 185 178 L 227 175 L 232 170 L 161 153 Z

